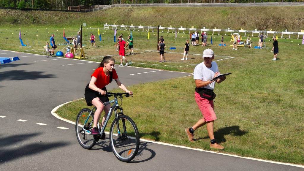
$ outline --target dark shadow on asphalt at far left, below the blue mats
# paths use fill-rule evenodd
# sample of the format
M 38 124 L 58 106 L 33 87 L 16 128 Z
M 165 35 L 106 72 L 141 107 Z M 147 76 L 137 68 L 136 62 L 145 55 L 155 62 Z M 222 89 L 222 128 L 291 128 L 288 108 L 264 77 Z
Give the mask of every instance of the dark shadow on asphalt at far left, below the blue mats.
M 27 72 L 25 70 L 5 71 L 0 73 L 0 81 L 55 78 L 54 74 L 43 74 L 43 73 L 44 72 L 41 71 Z

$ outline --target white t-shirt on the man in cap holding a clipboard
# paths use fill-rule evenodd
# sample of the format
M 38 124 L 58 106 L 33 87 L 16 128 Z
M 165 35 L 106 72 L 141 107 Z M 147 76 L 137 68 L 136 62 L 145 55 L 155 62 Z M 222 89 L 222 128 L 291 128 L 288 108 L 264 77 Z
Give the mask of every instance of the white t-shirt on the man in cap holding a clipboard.
M 213 79 L 215 72 L 219 72 L 216 62 L 211 62 L 211 68 L 207 68 L 205 63 L 202 62 L 196 65 L 194 68 L 193 79 L 200 79 L 202 81 L 209 81 Z M 215 81 L 206 85 L 204 88 L 213 90 L 215 86 Z

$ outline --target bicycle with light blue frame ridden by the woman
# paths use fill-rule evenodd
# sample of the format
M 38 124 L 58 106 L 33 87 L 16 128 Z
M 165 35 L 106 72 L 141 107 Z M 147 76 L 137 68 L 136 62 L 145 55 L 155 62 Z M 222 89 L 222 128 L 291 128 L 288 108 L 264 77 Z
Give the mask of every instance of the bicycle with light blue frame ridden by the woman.
M 124 95 L 124 96 L 123 96 Z M 129 97 L 129 93 L 108 92 L 106 96 L 114 96 L 114 99 L 103 103 L 105 106 L 114 103 L 105 119 L 104 126 L 98 122 L 99 135 L 91 135 L 96 107 L 92 110 L 85 108 L 80 110 L 76 119 L 76 135 L 81 147 L 91 149 L 99 139 L 105 139 L 105 127 L 114 111 L 115 118 L 110 127 L 110 145 L 116 158 L 122 162 L 130 162 L 139 149 L 139 132 L 135 122 L 123 114 L 123 108 L 118 105 L 118 98 Z M 132 96 L 133 97 L 133 96 Z M 118 112 L 118 110 L 120 112 Z

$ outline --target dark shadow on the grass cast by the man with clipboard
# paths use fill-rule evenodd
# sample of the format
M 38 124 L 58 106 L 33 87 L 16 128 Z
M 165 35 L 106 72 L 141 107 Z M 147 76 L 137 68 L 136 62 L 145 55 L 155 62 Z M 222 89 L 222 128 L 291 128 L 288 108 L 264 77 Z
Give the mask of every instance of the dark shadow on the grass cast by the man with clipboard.
M 230 127 L 224 127 L 220 128 L 219 130 L 214 132 L 214 137 L 216 138 L 217 142 L 226 142 L 225 135 L 230 135 L 232 134 L 233 136 L 242 136 L 244 134 L 247 134 L 248 131 L 242 131 L 240 130 L 240 126 L 234 125 Z M 197 138 L 196 140 L 199 139 L 207 139 L 209 136 L 203 137 L 203 138 Z

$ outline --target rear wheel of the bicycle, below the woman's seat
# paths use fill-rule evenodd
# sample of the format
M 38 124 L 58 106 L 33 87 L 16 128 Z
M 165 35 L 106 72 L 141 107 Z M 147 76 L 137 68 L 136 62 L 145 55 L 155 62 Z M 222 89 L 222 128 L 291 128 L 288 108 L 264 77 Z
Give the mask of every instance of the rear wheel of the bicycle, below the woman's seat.
M 96 144 L 93 135 L 90 134 L 93 128 L 94 120 L 94 114 L 90 115 L 90 113 L 91 110 L 88 108 L 80 110 L 75 124 L 77 140 L 81 147 L 85 149 L 90 149 Z

